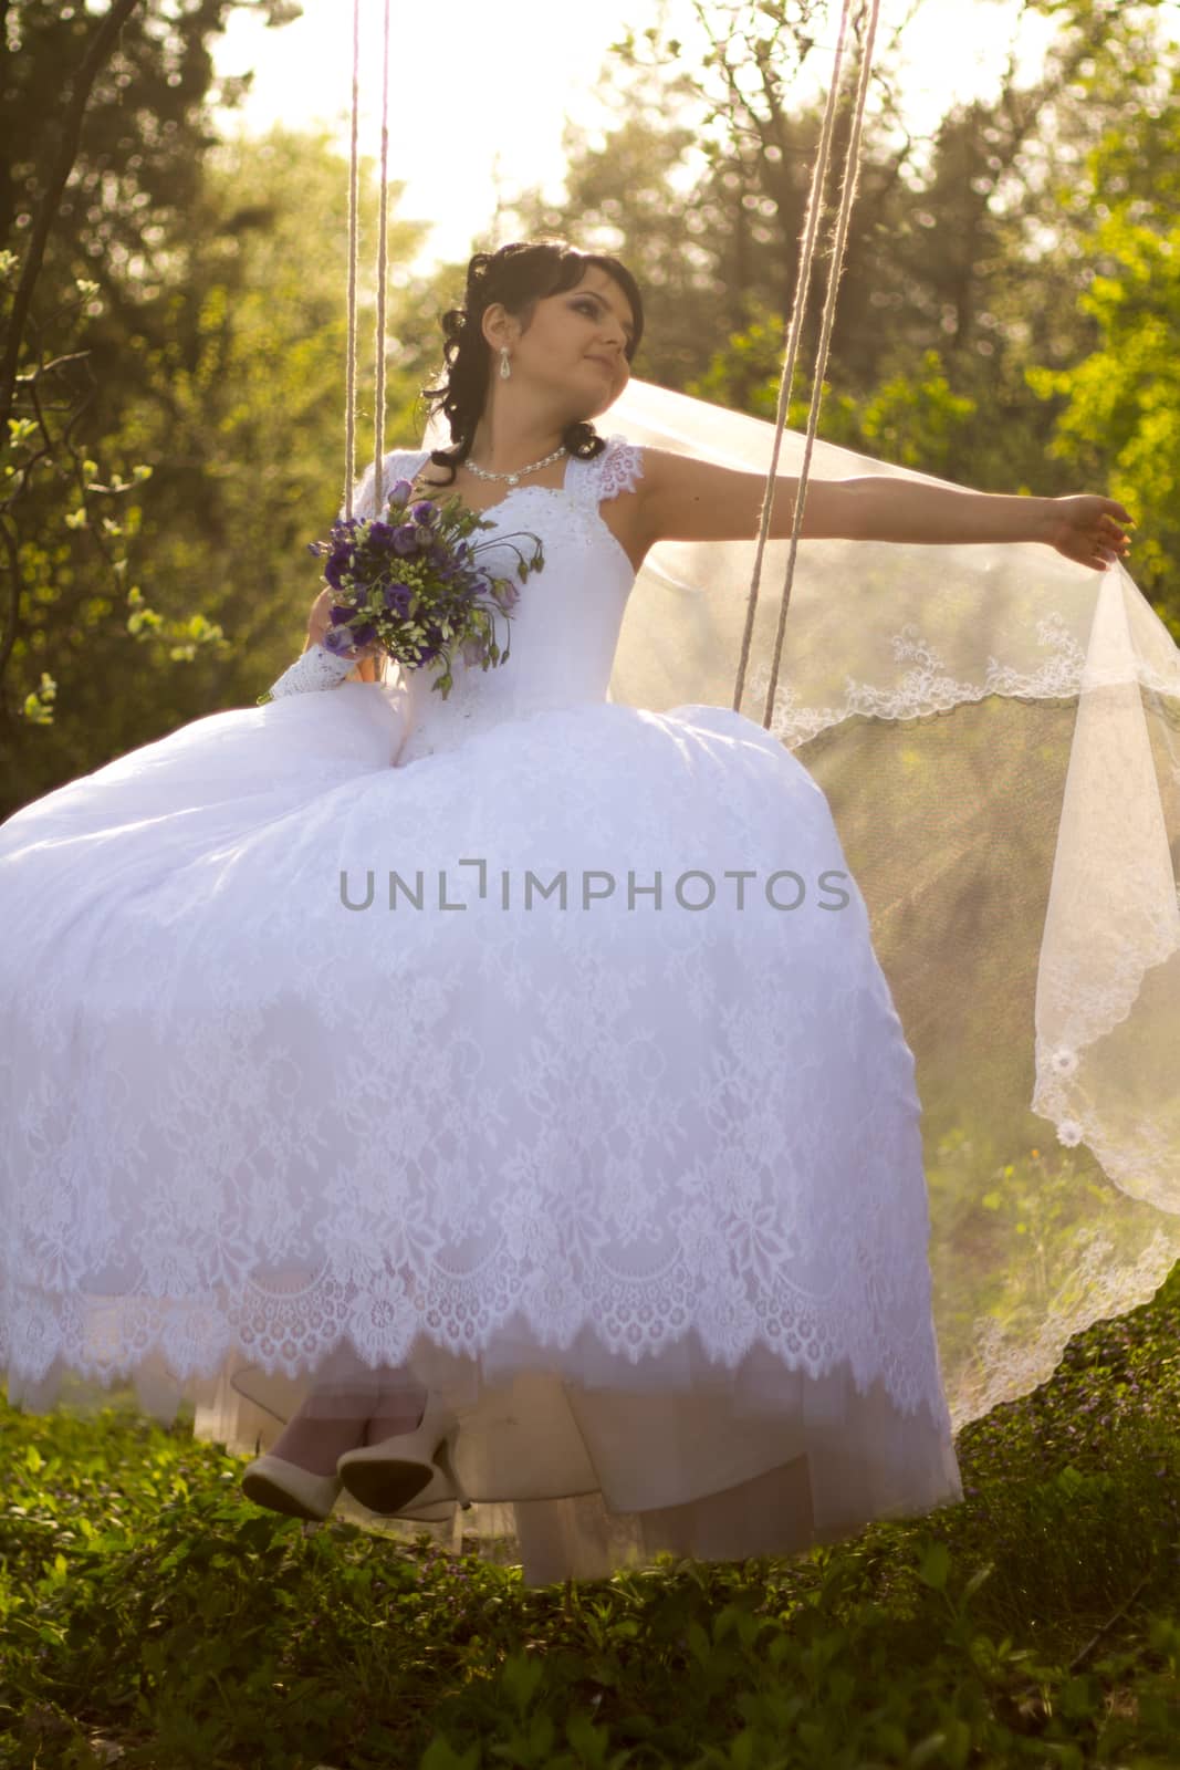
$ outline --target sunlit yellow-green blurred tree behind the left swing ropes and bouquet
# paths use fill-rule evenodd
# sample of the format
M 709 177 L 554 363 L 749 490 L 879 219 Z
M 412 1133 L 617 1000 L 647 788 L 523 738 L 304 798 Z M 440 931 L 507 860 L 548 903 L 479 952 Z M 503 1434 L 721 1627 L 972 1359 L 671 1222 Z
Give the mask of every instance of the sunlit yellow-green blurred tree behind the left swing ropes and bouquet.
M 142 350 L 124 423 L 168 462 L 168 481 L 145 510 L 140 570 L 177 618 L 198 589 L 230 641 L 216 678 L 202 674 L 186 696 L 191 717 L 209 710 L 211 690 L 253 703 L 299 650 L 318 591 L 306 543 L 326 533 L 345 480 L 345 177 L 327 136 L 276 127 L 211 150 L 184 276 L 161 294 L 166 324 Z M 419 235 L 393 223 L 393 264 Z M 372 322 L 364 289 L 357 473 L 372 455 Z M 418 391 L 396 366 L 387 389 L 396 405 Z

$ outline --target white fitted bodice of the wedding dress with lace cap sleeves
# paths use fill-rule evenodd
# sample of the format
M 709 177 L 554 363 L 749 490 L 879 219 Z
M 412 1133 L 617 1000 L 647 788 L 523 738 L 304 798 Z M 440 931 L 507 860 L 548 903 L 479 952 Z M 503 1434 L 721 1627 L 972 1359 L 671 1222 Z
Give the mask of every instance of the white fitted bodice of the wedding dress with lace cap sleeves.
M 428 460 L 426 451 L 391 450 L 382 464 L 382 481 L 412 480 Z M 633 490 L 642 474 L 642 453 L 624 437 L 610 437 L 594 460 L 570 457 L 564 485 L 518 485 L 488 506 L 483 515 L 494 529 L 479 540 L 540 535 L 545 566 L 520 584 L 520 600 L 510 623 L 497 620 L 511 646 L 506 662 L 487 671 L 467 666 L 455 650 L 451 692 L 433 689 L 435 671 L 389 667 L 386 692 L 405 706 L 407 736 L 398 766 L 437 750 L 455 749 L 474 729 L 520 719 L 534 712 L 580 706 L 609 699 L 610 671 L 619 643 L 626 598 L 635 568 L 600 515 L 600 504 Z M 375 469 L 370 464 L 354 497 L 354 515 L 375 515 Z M 529 549 L 527 540 L 520 540 Z M 517 554 L 504 545 L 488 547 L 481 563 L 515 577 Z

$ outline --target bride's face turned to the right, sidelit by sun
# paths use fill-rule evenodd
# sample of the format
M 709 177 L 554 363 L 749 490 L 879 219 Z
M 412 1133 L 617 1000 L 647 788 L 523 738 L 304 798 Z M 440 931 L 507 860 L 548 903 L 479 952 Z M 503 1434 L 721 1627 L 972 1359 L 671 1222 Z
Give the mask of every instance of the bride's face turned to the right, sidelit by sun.
M 598 418 L 619 398 L 632 370 L 626 350 L 635 315 L 623 289 L 589 264 L 573 289 L 543 296 L 525 331 L 510 343 L 511 372 L 559 396 L 577 418 Z

